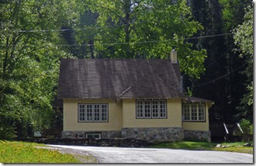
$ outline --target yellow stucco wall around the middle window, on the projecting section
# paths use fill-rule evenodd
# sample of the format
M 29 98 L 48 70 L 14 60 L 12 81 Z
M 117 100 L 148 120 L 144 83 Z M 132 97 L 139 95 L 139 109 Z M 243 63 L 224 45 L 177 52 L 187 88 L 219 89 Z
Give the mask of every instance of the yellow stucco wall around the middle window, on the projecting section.
M 123 127 L 182 127 L 182 100 L 167 100 L 166 119 L 137 119 L 136 100 L 123 99 Z

